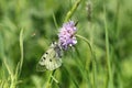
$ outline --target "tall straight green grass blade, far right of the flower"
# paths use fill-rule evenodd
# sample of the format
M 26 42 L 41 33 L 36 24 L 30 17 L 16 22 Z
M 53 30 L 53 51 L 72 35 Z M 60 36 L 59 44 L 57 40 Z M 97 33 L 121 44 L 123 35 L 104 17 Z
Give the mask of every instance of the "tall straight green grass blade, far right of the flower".
M 110 64 L 110 52 L 109 52 L 109 34 L 108 34 L 108 28 L 107 28 L 107 20 L 106 20 L 106 6 L 103 4 L 103 11 L 105 11 L 105 31 L 106 31 L 106 52 L 107 52 L 107 64 L 108 64 L 108 75 L 109 75 L 109 81 L 110 81 L 110 88 L 113 88 L 112 84 L 112 70 L 111 70 L 111 64 Z M 108 82 L 109 82 L 108 81 Z M 107 86 L 108 87 L 108 86 Z

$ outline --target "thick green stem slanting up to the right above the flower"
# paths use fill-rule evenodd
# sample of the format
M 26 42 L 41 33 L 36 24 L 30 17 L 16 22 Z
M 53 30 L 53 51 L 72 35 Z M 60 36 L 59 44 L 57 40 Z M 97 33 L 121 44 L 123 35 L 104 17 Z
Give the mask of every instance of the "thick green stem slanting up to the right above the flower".
M 72 10 L 69 10 L 66 14 L 66 18 L 64 19 L 64 22 L 67 22 L 72 15 L 74 14 L 74 12 L 76 11 L 76 9 L 78 8 L 79 3 L 81 0 L 76 1 L 76 3 L 73 6 Z

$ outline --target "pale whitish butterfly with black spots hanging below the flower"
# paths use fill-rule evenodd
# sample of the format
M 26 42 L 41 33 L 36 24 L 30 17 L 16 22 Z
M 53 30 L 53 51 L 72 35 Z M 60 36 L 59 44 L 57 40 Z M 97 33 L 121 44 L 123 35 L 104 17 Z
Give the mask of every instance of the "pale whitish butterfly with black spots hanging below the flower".
M 46 69 L 54 70 L 62 66 L 62 48 L 56 42 L 53 42 L 50 48 L 43 54 L 38 64 L 36 66 L 36 70 L 44 72 Z

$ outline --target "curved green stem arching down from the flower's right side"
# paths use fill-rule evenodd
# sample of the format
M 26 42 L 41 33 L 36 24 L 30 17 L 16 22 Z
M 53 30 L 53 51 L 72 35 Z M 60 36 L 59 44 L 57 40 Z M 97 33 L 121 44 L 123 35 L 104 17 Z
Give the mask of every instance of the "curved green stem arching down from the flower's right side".
M 90 48 L 91 56 L 92 56 L 92 57 L 91 57 L 91 58 L 92 58 L 92 68 L 94 68 L 94 74 L 92 74 L 94 84 L 92 84 L 92 88 L 96 88 L 96 56 L 95 56 L 95 54 L 94 54 L 91 44 L 90 44 L 90 42 L 89 42 L 86 37 L 84 37 L 84 36 L 81 36 L 81 35 L 78 35 L 78 34 L 76 34 L 76 36 L 79 37 L 79 38 L 81 38 L 81 40 L 84 40 L 84 41 L 88 44 L 88 46 L 89 46 L 89 48 Z M 87 61 L 86 61 L 86 62 L 87 62 Z M 86 70 L 87 70 L 87 68 L 86 68 Z

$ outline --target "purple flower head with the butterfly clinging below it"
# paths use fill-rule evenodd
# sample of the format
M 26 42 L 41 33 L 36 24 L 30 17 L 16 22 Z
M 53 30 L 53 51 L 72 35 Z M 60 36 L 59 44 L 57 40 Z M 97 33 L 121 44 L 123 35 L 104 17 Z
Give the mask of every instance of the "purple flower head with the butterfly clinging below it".
M 69 21 L 63 24 L 58 34 L 58 44 L 63 50 L 67 50 L 68 46 L 73 46 L 77 43 L 75 36 L 77 28 L 75 26 L 74 21 Z

